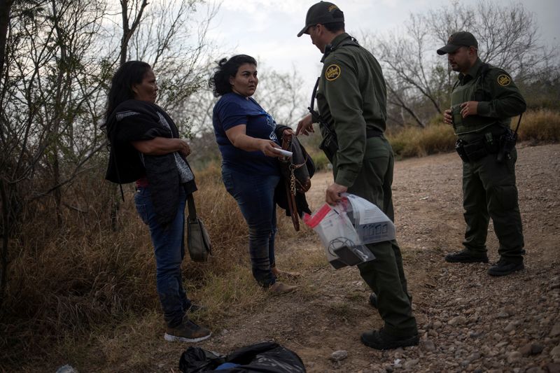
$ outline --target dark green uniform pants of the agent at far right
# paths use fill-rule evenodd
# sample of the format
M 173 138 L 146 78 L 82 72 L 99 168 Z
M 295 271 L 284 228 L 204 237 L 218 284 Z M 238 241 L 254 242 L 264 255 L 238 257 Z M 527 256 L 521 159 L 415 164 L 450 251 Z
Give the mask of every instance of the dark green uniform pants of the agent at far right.
M 476 162 L 463 162 L 463 208 L 465 209 L 465 248 L 476 256 L 486 255 L 489 218 L 500 242 L 498 253 L 510 262 L 522 262 L 524 246 L 521 215 L 515 186 L 517 151 L 503 163 L 495 154 Z

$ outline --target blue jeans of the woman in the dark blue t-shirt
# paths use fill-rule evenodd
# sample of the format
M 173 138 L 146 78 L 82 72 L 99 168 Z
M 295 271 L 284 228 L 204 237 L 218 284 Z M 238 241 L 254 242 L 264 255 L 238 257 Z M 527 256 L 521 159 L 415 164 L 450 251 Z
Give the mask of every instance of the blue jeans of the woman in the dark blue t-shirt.
M 276 203 L 274 189 L 280 181 L 276 175 L 247 175 L 222 167 L 225 189 L 235 198 L 249 230 L 249 255 L 253 277 L 265 288 L 276 282 L 274 237 Z

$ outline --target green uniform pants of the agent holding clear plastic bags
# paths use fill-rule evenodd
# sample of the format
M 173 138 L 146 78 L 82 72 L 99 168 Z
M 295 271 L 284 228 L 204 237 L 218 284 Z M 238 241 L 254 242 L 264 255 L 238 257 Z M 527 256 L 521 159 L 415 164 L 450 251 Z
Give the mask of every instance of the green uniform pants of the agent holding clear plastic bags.
M 334 160 L 336 163 L 336 159 Z M 384 137 L 367 139 L 363 164 L 354 184 L 353 195 L 365 198 L 394 219 L 391 184 L 393 183 L 393 149 Z M 336 177 L 336 164 L 333 164 Z M 377 294 L 377 309 L 391 335 L 405 336 L 417 332 L 412 316 L 412 298 L 407 291 L 402 256 L 397 241 L 368 244 L 375 259 L 358 265 L 360 275 Z

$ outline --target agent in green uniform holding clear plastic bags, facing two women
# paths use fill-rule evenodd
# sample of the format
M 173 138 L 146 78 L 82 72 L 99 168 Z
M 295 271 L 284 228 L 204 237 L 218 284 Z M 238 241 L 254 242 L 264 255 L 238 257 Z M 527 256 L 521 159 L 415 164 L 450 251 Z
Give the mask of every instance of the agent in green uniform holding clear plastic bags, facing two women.
M 305 27 L 324 53 L 316 99 L 323 135 L 321 148 L 332 162 L 335 183 L 325 200 L 336 204 L 343 192 L 367 199 L 393 219 L 393 149 L 383 136 L 386 128 L 386 87 L 373 55 L 344 32 L 344 15 L 335 4 L 321 1 L 307 11 Z M 297 133 L 314 132 L 317 118 L 307 115 Z M 333 147 L 332 145 L 335 144 Z M 374 349 L 418 344 L 400 248 L 395 240 L 367 245 L 376 259 L 359 265 L 360 275 L 377 293 L 384 328 L 361 335 Z

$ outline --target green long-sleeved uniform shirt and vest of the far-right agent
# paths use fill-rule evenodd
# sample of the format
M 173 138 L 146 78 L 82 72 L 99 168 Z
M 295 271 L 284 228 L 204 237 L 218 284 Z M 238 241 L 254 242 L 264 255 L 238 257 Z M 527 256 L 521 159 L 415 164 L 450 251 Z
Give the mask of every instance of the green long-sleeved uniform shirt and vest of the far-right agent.
M 461 117 L 461 104 L 478 101 L 477 115 Z M 477 59 L 466 74 L 459 73 L 451 94 L 455 133 L 463 139 L 510 127 L 511 117 L 523 113 L 526 103 L 511 76 L 498 67 L 488 65 L 482 73 L 482 62 Z M 486 131 L 484 131 L 486 132 Z

